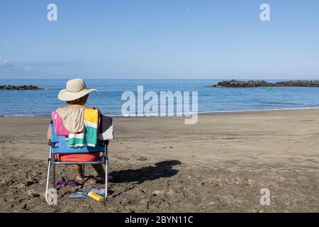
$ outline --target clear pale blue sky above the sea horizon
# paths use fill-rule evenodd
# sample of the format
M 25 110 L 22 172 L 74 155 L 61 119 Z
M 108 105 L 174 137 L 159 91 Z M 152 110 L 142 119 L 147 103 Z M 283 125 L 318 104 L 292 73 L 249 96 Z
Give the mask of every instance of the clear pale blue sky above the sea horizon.
M 0 31 L 0 79 L 319 79 L 317 0 L 0 0 Z

